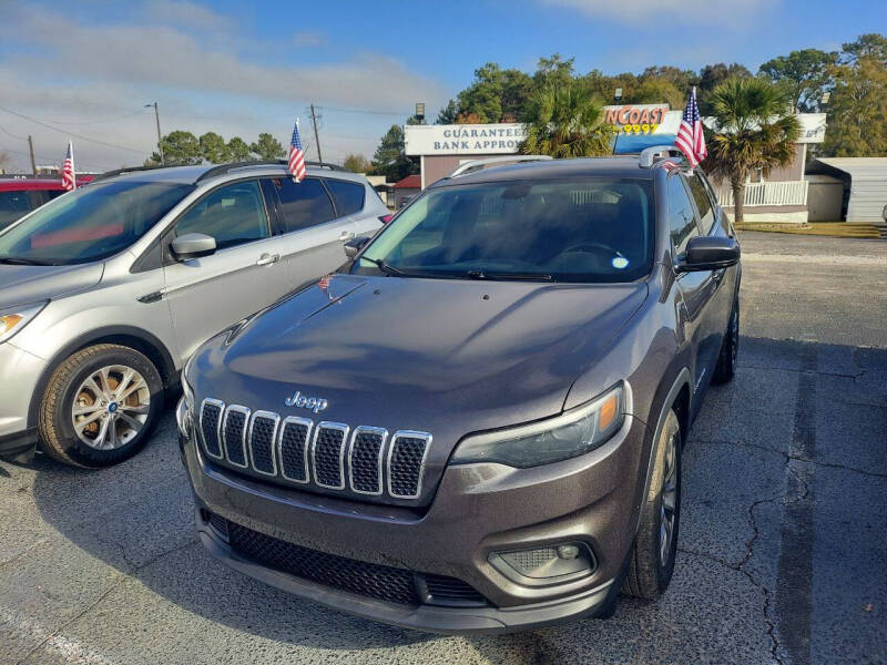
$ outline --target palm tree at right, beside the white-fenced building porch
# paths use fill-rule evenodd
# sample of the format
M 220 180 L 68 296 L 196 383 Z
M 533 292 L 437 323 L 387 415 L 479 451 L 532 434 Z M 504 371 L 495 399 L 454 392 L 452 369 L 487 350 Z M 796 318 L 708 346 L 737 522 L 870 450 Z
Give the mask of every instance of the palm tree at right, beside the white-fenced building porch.
M 734 222 L 743 221 L 745 181 L 756 171 L 788 165 L 801 123 L 782 88 L 763 79 L 727 79 L 710 98 L 715 133 L 708 139 L 706 171 L 730 181 Z

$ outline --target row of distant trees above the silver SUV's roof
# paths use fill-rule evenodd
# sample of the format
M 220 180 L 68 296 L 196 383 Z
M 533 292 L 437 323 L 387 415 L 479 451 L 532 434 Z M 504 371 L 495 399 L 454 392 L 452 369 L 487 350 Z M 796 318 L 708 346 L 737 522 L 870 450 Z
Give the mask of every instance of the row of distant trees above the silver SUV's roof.
M 239 136 L 225 141 L 215 132 L 206 132 L 197 137 L 191 132 L 176 130 L 163 136 L 161 144 L 163 163 L 167 166 L 187 166 L 204 162 L 226 164 L 253 160 L 279 160 L 286 156 L 281 142 L 267 132 L 261 133 L 253 143 L 246 143 Z M 145 160 L 145 166 L 156 166 L 160 163 L 160 151 Z

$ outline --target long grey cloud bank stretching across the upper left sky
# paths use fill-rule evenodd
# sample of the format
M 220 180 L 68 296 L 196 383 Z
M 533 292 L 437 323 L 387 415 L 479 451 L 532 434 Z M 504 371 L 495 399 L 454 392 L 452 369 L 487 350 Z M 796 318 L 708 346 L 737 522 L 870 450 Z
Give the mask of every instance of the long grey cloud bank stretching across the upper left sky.
M 39 49 L 10 58 L 20 71 L 47 78 L 63 69 L 74 78 L 125 82 L 264 100 L 299 100 L 361 109 L 409 109 L 442 99 L 440 89 L 399 61 L 364 53 L 340 62 L 267 64 L 215 48 L 165 25 L 86 25 L 44 12 L 21 17 L 14 34 Z M 0 34 L 2 34 L 0 29 Z M 12 32 L 12 31 L 10 31 Z M 64 34 L 64 40 L 58 35 Z M 63 62 L 64 66 L 60 68 Z M 385 81 L 385 85 L 380 82 Z

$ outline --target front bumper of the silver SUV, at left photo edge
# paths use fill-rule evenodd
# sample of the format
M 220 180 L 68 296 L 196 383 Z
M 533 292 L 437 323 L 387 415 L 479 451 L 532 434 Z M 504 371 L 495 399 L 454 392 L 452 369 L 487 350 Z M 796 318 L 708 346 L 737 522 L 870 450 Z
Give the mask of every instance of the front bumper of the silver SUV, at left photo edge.
M 11 341 L 0 344 L 0 456 L 33 450 L 35 428 L 28 427 L 28 411 L 47 361 Z

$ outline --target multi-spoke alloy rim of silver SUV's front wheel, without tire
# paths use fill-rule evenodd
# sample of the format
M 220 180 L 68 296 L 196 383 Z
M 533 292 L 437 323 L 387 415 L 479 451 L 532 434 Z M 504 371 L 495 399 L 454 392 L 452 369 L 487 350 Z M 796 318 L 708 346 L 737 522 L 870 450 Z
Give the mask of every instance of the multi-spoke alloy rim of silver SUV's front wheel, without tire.
M 109 365 L 80 385 L 71 408 L 78 438 L 96 450 L 132 441 L 147 420 L 151 390 L 144 377 L 125 365 Z

